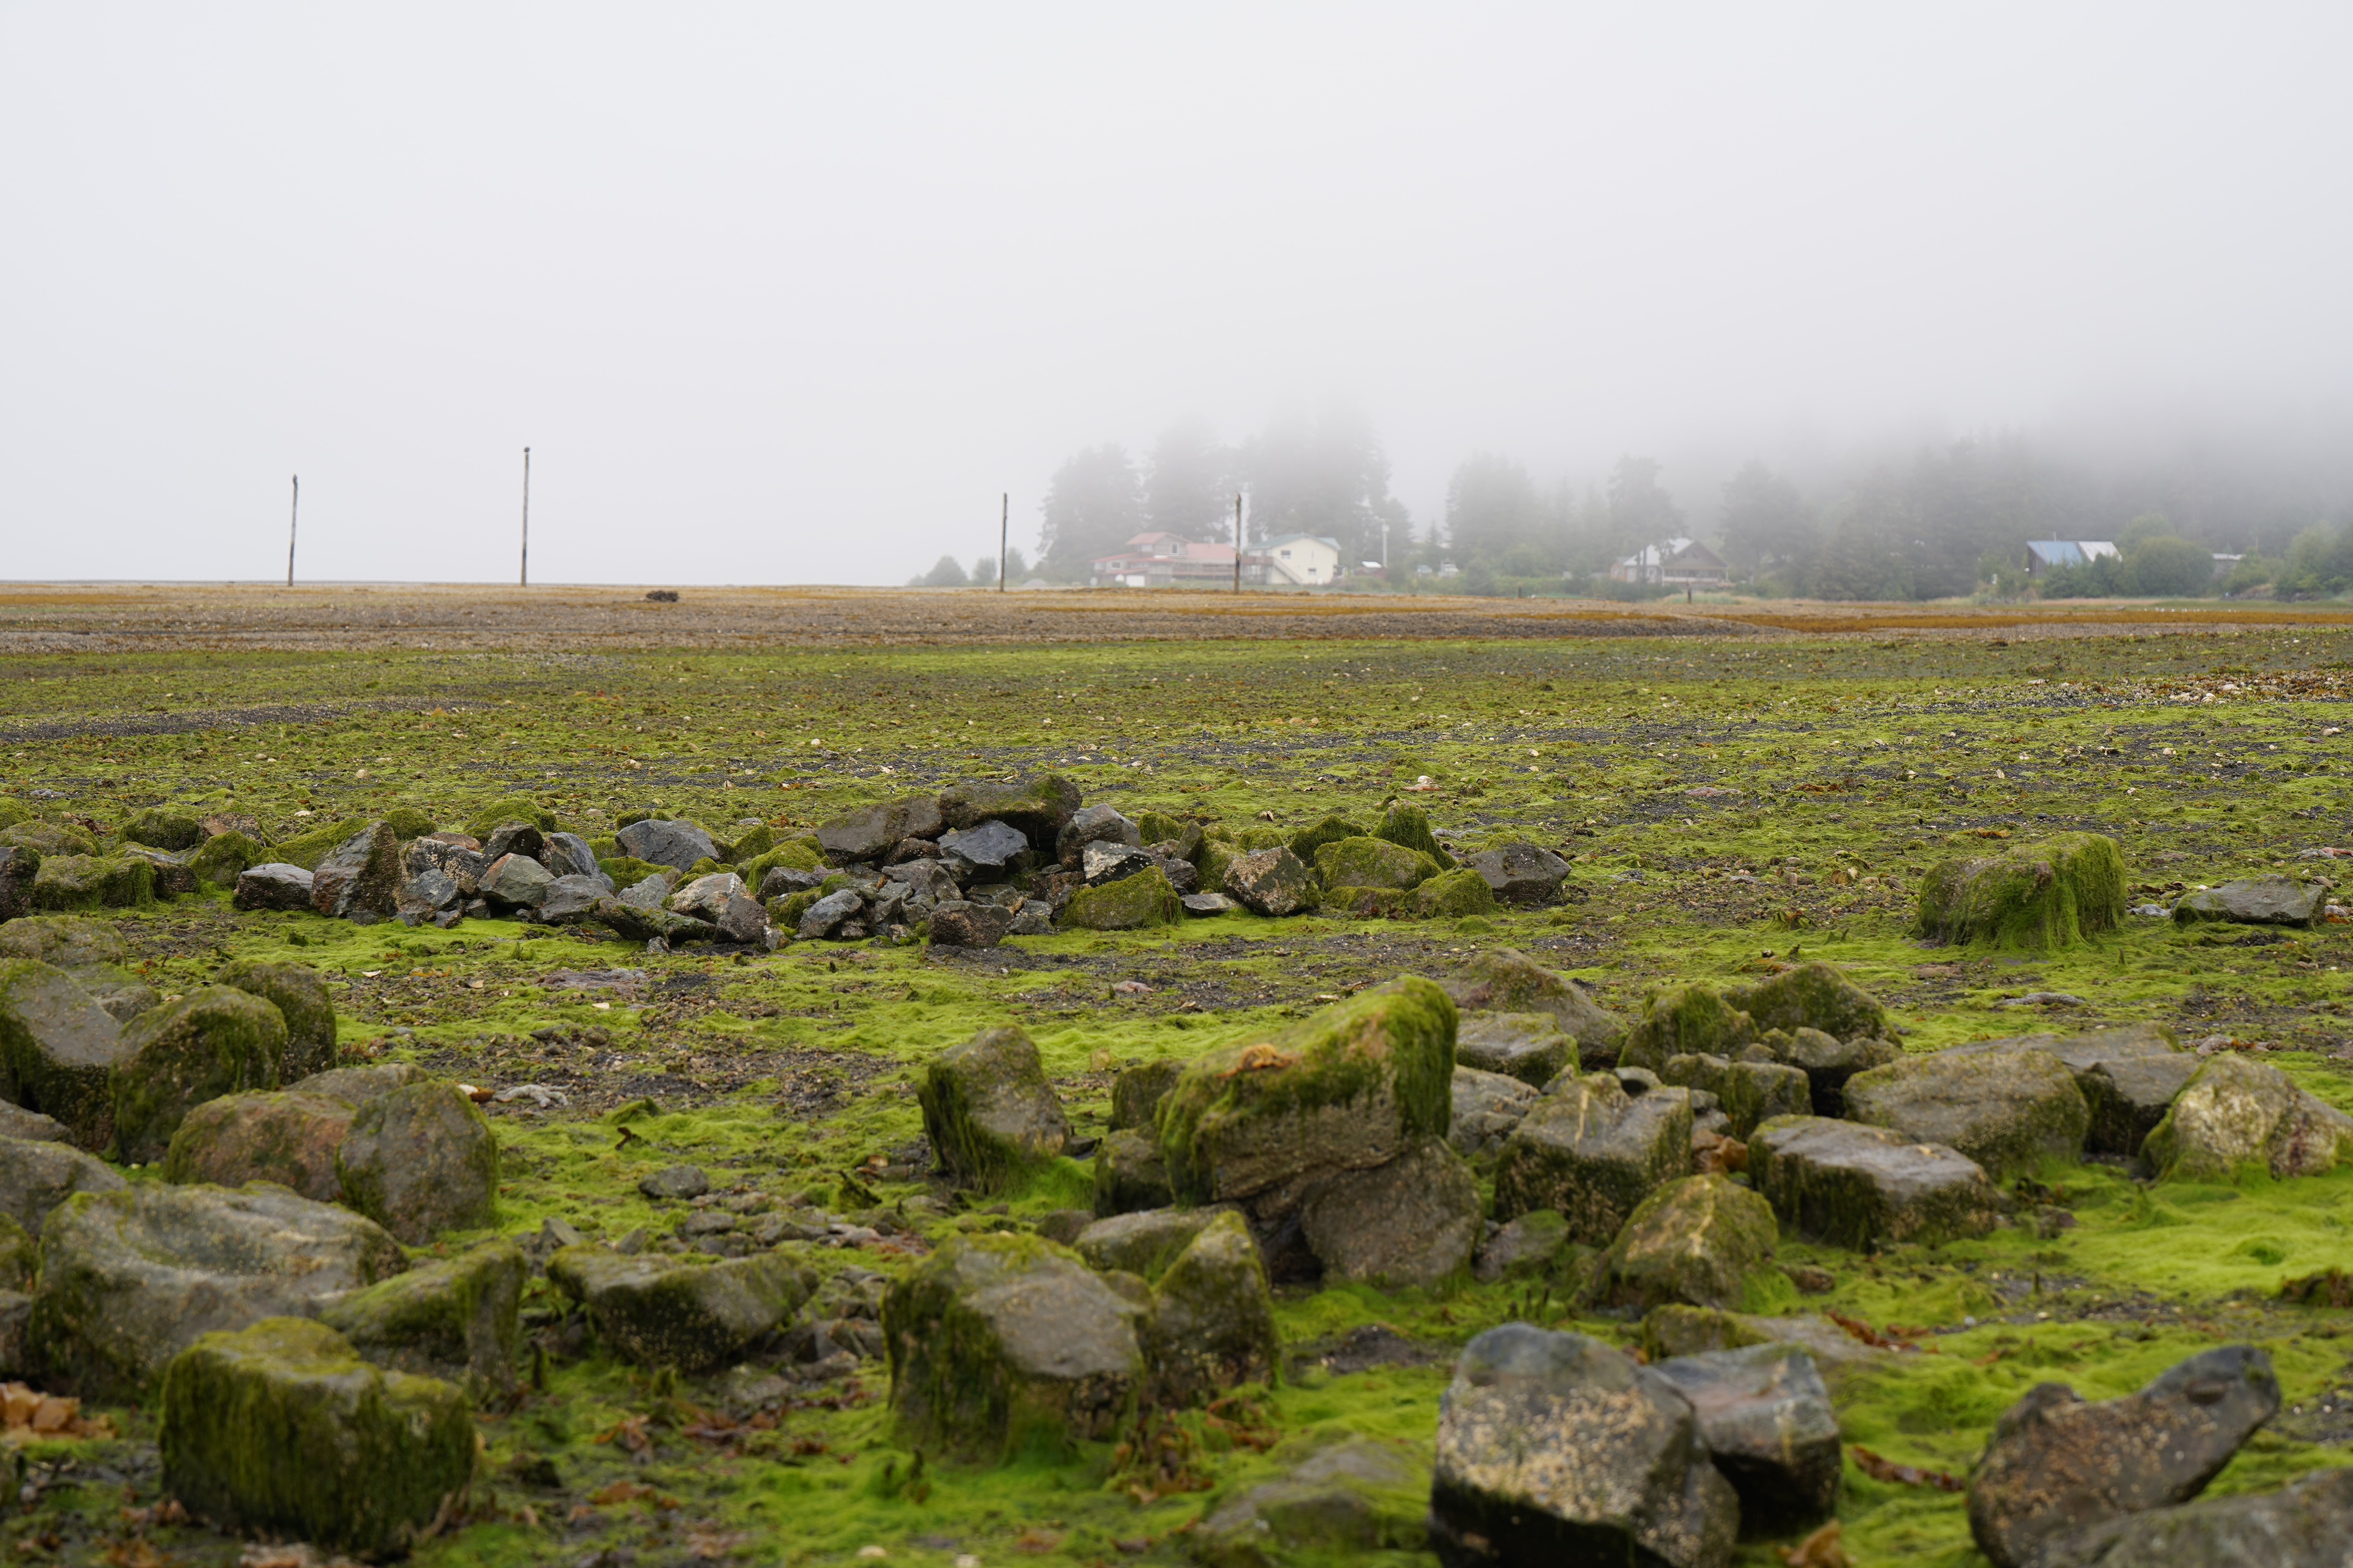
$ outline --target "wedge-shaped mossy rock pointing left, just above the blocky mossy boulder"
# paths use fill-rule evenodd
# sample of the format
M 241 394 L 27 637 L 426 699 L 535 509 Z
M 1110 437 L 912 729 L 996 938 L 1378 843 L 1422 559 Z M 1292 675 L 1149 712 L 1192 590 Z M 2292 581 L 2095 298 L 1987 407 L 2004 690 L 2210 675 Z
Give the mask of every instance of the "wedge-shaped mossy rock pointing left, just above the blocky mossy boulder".
M 461 1382 L 489 1406 L 515 1392 L 520 1305 L 529 1276 L 520 1246 L 485 1241 L 353 1291 L 322 1307 L 318 1319 L 376 1366 Z

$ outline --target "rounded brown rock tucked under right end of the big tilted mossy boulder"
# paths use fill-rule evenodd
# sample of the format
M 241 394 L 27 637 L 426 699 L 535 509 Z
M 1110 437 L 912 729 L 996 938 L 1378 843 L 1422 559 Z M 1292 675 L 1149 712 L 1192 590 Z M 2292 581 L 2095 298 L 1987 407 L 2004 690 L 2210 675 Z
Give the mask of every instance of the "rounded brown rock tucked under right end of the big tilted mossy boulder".
M 1478 1178 L 1440 1138 L 1369 1171 L 1341 1171 L 1306 1194 L 1299 1229 L 1334 1284 L 1435 1286 L 1471 1265 Z

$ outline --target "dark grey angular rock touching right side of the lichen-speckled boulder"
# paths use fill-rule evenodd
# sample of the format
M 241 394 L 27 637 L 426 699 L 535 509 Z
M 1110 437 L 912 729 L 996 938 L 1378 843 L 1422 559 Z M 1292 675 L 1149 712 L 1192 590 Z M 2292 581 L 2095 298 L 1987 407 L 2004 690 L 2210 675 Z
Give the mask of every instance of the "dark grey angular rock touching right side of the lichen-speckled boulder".
M 1838 1413 L 1798 1345 L 1748 1345 L 1657 1363 L 1692 1413 L 1715 1469 L 1741 1495 L 1741 1528 L 1784 1535 L 1838 1512 Z

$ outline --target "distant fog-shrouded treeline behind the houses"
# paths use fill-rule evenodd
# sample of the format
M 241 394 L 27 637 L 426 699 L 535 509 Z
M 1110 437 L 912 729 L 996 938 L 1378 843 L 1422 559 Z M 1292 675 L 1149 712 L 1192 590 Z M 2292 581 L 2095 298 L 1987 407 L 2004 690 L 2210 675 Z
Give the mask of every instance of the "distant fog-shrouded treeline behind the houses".
M 1452 564 L 1457 592 L 1593 592 L 1612 562 L 1673 536 L 1718 550 L 1737 583 L 1821 599 L 2024 592 L 2031 538 L 2125 552 L 2042 578 L 2045 597 L 2353 590 L 2348 496 L 2275 463 L 2094 465 L 2026 437 L 1965 440 L 1802 484 L 1751 461 L 1687 508 L 1645 456 L 1595 482 L 1539 484 L 1482 451 L 1457 465 L 1445 517 L 1417 527 L 1388 494 L 1379 435 L 1348 409 L 1287 414 L 1240 444 L 1181 421 L 1141 461 L 1118 444 L 1073 454 L 1047 487 L 1035 571 L 1085 581 L 1087 562 L 1146 529 L 1231 541 L 1235 491 L 1254 541 L 1320 534 L 1344 559 L 1377 562 L 1386 524 L 1393 578 Z M 2217 578 L 2217 552 L 2247 559 Z

